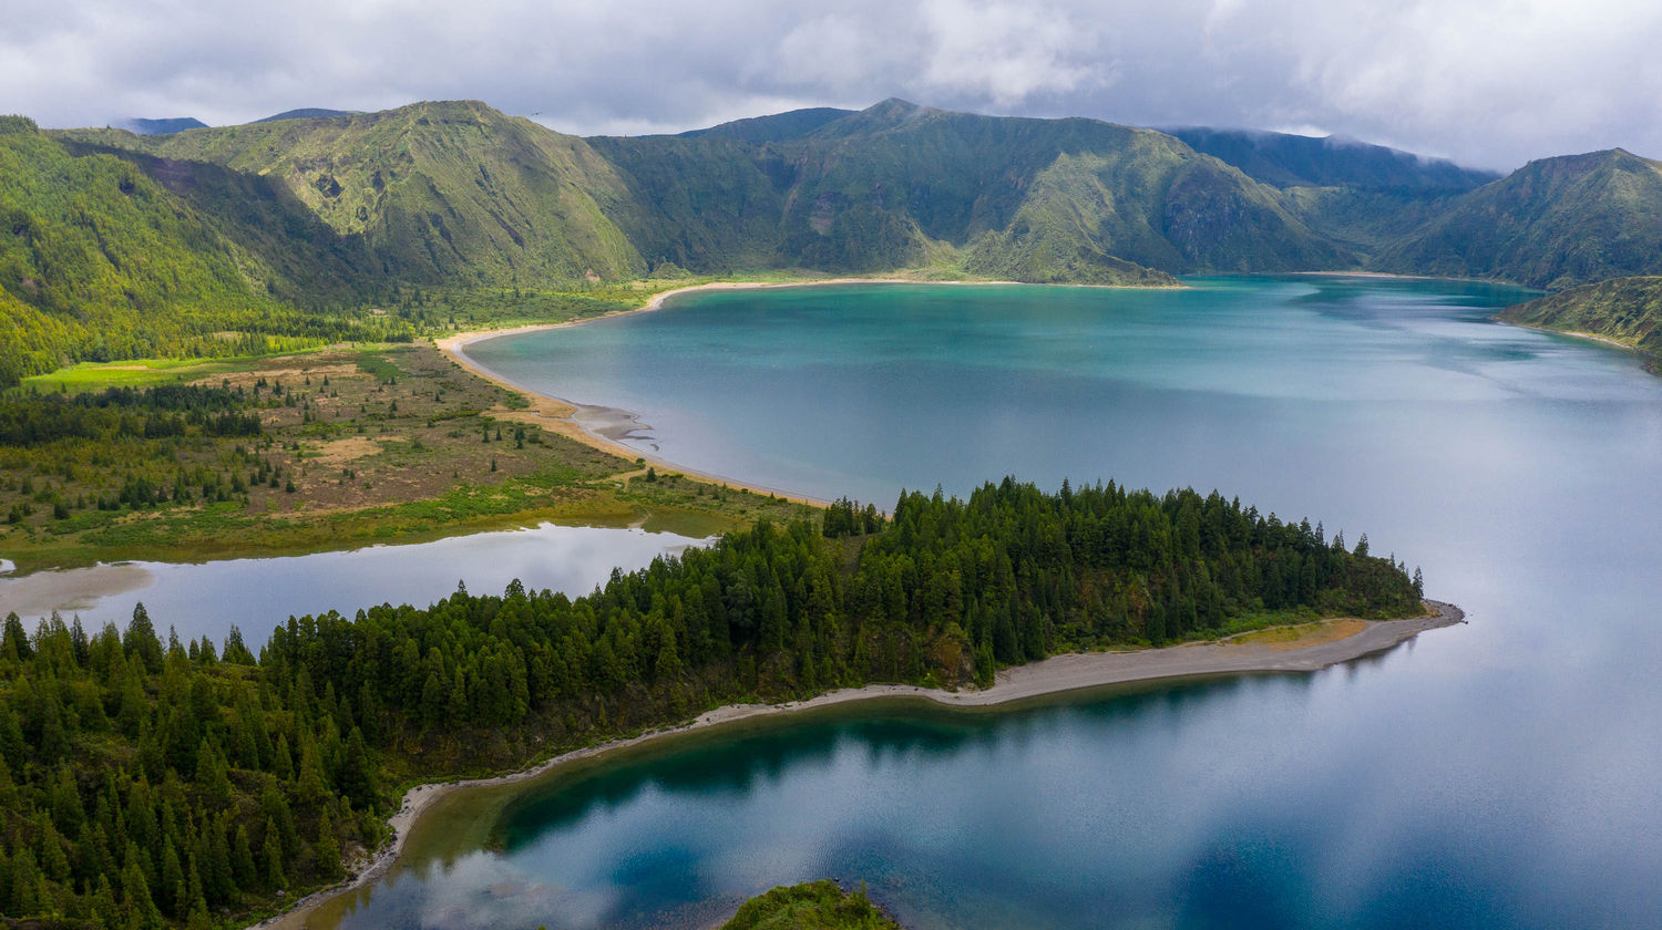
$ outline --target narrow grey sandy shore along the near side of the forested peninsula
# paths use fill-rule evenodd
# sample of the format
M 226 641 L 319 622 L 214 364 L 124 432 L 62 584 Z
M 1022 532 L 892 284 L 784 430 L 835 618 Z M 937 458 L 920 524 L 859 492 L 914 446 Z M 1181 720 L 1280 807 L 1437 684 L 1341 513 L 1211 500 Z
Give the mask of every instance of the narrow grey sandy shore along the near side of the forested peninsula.
M 1431 600 L 1424 601 L 1424 604 L 1429 608 L 1428 614 L 1404 619 L 1361 621 L 1366 626 L 1363 626 L 1358 633 L 1341 639 L 1318 641 L 1295 649 L 1278 649 L 1275 644 L 1268 643 L 1232 643 L 1232 639 L 1238 636 L 1250 636 L 1250 633 L 1246 633 L 1205 643 L 1183 643 L 1177 646 L 1133 649 L 1127 653 L 1069 653 L 1062 656 L 1050 656 L 1037 663 L 1001 669 L 992 686 L 976 691 L 944 691 L 917 684 L 868 684 L 863 688 L 839 688 L 814 698 L 788 701 L 783 704 L 726 704 L 713 711 L 705 711 L 698 717 L 683 724 L 666 726 L 638 736 L 613 739 L 597 746 L 585 746 L 582 749 L 562 752 L 519 772 L 487 779 L 420 784 L 404 792 L 404 800 L 399 804 L 399 810 L 387 819 L 387 825 L 392 829 L 392 839 L 374 854 L 362 872 L 346 882 L 299 898 L 288 910 L 253 923 L 249 930 L 276 930 L 279 927 L 286 930 L 301 930 L 307 927 L 306 918 L 324 902 L 352 893 L 379 880 L 397 864 L 399 855 L 404 850 L 404 844 L 409 839 L 412 827 L 420 820 L 420 815 L 432 809 L 432 805 L 440 799 L 457 790 L 520 784 L 548 776 L 572 762 L 637 747 L 650 741 L 708 731 L 740 721 L 794 714 L 841 704 L 856 704 L 861 701 L 914 699 L 927 701 L 942 707 L 984 709 L 1019 704 L 1039 698 L 1162 679 L 1315 673 L 1341 663 L 1394 649 L 1428 629 L 1439 629 L 1466 621 L 1466 613 L 1454 604 Z

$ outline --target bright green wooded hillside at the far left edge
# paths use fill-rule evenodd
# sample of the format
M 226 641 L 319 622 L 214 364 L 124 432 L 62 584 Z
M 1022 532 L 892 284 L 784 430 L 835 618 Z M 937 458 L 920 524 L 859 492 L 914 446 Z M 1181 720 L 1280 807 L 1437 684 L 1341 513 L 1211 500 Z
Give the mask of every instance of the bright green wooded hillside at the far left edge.
M 75 158 L 0 118 L 0 387 L 68 360 L 264 350 L 254 332 L 337 337 L 302 317 L 258 252 L 135 164 Z M 302 271 L 296 271 L 302 272 Z

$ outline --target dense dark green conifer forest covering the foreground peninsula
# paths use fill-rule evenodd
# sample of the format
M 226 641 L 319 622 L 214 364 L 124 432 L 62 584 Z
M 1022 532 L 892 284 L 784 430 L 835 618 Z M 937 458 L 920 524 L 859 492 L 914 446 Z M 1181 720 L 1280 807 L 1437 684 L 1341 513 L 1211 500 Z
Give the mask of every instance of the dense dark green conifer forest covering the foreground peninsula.
M 1265 616 L 1404 616 L 1419 580 L 1212 493 L 1004 480 L 758 523 L 570 600 L 514 583 L 291 619 L 258 658 L 76 619 L 0 638 L 0 917 L 236 923 L 339 879 L 401 786 L 740 699 L 986 684 Z M 165 618 L 158 618 L 165 623 Z

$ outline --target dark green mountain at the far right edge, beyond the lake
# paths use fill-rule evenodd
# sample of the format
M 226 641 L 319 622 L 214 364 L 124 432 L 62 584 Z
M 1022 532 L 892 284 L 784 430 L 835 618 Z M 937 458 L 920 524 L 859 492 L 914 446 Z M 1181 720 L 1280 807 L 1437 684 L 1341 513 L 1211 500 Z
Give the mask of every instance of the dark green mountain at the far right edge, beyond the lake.
M 1384 271 L 1562 289 L 1662 272 L 1662 163 L 1544 158 L 1478 188 L 1378 257 Z

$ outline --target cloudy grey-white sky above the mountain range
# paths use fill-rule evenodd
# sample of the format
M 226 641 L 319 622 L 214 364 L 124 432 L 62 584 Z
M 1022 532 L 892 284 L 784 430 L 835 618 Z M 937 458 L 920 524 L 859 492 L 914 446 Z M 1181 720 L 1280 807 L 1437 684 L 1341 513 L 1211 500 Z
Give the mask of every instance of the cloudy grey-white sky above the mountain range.
M 1659 46 L 1654 0 L 3 0 L 0 113 L 224 125 L 479 98 L 590 135 L 904 96 L 1516 168 L 1662 158 Z

